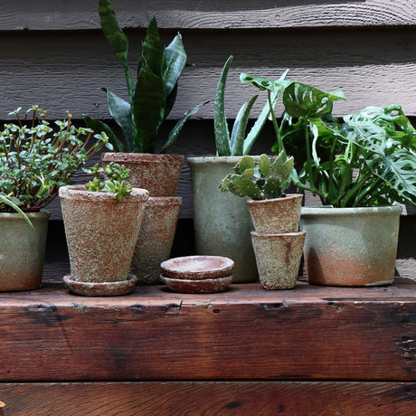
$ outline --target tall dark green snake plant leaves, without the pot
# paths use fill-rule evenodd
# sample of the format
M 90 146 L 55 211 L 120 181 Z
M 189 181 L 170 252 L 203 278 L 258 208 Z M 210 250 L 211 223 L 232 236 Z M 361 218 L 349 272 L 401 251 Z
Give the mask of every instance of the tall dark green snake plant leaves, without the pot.
M 84 116 L 85 122 L 94 130 L 105 131 L 119 152 L 155 153 L 159 128 L 174 107 L 177 83 L 186 64 L 182 36 L 178 33 L 168 46 L 163 47 L 156 18 L 152 18 L 137 61 L 137 81 L 134 86 L 128 63 L 128 36 L 120 28 L 114 8 L 108 0 L 99 0 L 99 19 L 103 33 L 124 67 L 128 101 L 107 88 L 102 89 L 107 93 L 109 113 L 122 129 L 124 140 L 118 140 L 111 128 L 102 121 Z M 186 120 L 204 104 L 206 102 L 186 111 L 168 135 L 161 153 L 175 142 Z

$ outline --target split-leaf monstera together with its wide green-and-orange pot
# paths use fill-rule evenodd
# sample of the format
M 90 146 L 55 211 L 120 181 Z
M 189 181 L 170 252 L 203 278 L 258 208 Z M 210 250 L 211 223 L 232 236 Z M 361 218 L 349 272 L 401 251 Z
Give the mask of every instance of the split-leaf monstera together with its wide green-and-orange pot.
M 241 80 L 268 90 L 263 79 L 241 74 Z M 335 118 L 339 99 L 345 99 L 339 90 L 292 82 L 283 93 L 280 126 L 273 117 L 277 147 L 298 140 L 305 149 L 294 183 L 323 204 L 302 209 L 307 279 L 333 286 L 390 284 L 402 212 L 396 203 L 416 203 L 416 130 L 398 105 Z

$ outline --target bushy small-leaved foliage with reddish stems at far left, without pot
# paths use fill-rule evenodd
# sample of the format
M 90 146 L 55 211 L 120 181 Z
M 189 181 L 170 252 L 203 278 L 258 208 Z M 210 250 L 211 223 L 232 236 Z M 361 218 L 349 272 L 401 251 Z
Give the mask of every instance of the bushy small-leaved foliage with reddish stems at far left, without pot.
M 14 114 L 17 124 L 7 123 L 0 131 L 0 212 L 39 211 L 58 194 L 59 187 L 69 184 L 81 165 L 108 145 L 105 133 L 91 137 L 90 128 L 76 128 L 68 118 L 55 121 L 55 128 L 46 121 L 46 111 L 33 106 L 24 118 Z M 18 207 L 21 211 L 16 210 Z M 27 217 L 26 217 L 27 218 Z

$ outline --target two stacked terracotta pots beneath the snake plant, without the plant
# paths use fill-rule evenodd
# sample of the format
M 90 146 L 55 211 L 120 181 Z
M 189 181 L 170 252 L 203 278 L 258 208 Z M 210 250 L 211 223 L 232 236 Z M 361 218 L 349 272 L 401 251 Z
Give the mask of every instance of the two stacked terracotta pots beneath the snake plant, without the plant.
M 182 198 L 174 195 L 184 156 L 104 153 L 103 165 L 109 162 L 125 165 L 130 184 L 149 192 L 130 273 L 137 276 L 137 285 L 160 284 L 160 263 L 170 257 L 182 204 Z

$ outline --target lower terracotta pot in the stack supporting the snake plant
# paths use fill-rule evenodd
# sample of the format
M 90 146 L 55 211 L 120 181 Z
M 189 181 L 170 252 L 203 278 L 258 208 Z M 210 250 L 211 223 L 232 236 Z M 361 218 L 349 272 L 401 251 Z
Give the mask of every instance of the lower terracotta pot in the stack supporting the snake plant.
M 130 266 L 138 285 L 161 283 L 160 263 L 170 257 L 181 203 L 180 196 L 151 196 L 147 200 Z

